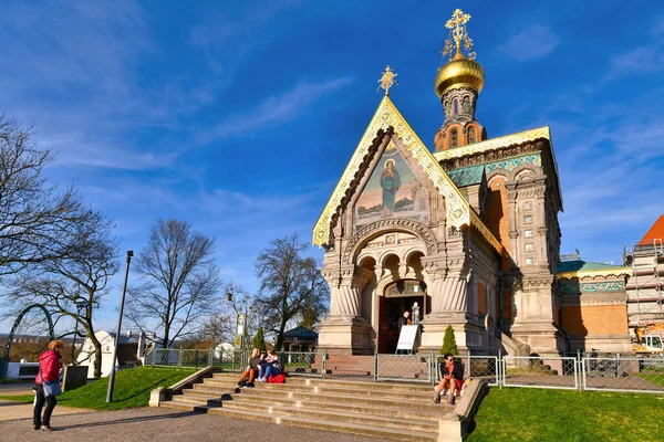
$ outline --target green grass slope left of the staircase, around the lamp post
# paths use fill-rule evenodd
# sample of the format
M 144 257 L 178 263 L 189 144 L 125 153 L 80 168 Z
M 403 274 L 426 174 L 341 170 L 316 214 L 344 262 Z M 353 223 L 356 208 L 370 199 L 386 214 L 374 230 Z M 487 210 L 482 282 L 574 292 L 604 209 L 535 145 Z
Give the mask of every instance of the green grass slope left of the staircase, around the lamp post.
M 58 397 L 58 406 L 89 408 L 94 410 L 120 410 L 132 407 L 145 407 L 149 392 L 157 387 L 169 387 L 194 373 L 194 370 L 176 368 L 138 367 L 118 371 L 113 388 L 113 402 L 106 403 L 108 378 L 87 383 Z M 32 402 L 34 396 L 2 396 L 21 402 Z

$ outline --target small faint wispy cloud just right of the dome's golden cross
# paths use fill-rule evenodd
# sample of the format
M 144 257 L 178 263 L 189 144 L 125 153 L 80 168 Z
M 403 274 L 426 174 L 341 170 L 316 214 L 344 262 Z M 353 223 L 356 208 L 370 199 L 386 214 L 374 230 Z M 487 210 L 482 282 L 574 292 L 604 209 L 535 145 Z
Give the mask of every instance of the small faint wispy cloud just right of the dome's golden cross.
M 559 43 L 560 36 L 551 28 L 532 23 L 498 46 L 498 50 L 510 59 L 529 61 L 549 54 Z

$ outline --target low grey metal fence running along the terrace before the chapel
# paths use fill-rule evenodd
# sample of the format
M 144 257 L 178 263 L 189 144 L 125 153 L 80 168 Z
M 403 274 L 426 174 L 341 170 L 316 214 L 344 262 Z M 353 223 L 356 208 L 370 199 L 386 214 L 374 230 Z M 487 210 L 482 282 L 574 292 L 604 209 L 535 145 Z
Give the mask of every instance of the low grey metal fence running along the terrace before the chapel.
M 371 356 L 367 357 L 370 360 Z M 603 356 L 458 356 L 464 377 L 486 379 L 491 386 L 532 387 L 566 390 L 600 390 L 664 393 L 664 357 Z M 330 371 L 328 352 L 283 351 L 282 371 L 289 376 L 325 377 Z M 200 349 L 157 348 L 146 355 L 145 364 L 199 368 L 218 366 L 240 372 L 247 367 L 248 352 Z M 374 381 L 436 383 L 440 380 L 443 358 L 430 352 L 373 356 Z M 333 368 L 333 367 L 332 367 Z M 366 372 L 365 372 L 366 375 Z M 371 377 L 370 377 L 371 379 Z

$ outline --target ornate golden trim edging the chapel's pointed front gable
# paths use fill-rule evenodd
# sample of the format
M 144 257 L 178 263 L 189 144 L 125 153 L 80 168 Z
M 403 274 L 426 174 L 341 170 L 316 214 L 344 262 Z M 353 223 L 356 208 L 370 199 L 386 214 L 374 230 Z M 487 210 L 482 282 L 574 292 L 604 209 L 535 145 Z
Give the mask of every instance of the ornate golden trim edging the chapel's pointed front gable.
M 394 128 L 394 136 L 400 137 L 404 147 L 408 149 L 411 155 L 413 155 L 413 158 L 421 165 L 424 172 L 438 189 L 438 192 L 445 197 L 447 225 L 460 229 L 464 224 L 469 225 L 473 223 L 496 251 L 502 253 L 502 245 L 500 245 L 498 240 L 496 240 L 491 232 L 484 225 L 459 189 L 457 189 L 447 173 L 440 168 L 440 165 L 436 161 L 434 155 L 417 137 L 417 134 L 411 128 L 387 95 L 381 101 L 381 104 L 371 119 L 369 127 L 364 131 L 360 144 L 355 148 L 349 165 L 336 183 L 332 196 L 328 200 L 328 204 L 325 204 L 323 212 L 313 228 L 313 244 L 321 246 L 329 241 L 332 215 L 340 206 L 345 190 L 354 179 L 355 171 L 360 168 L 378 129 L 387 129 L 390 126 Z

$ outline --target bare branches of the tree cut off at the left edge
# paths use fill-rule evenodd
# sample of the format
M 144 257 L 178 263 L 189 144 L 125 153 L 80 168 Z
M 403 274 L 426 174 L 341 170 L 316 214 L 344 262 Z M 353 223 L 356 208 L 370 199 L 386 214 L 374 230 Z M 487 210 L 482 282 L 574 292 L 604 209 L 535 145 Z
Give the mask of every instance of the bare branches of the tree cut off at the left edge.
M 54 160 L 31 143 L 30 128 L 0 115 L 0 276 L 70 253 L 72 224 L 86 215 L 73 188 L 59 194 L 43 168 Z

